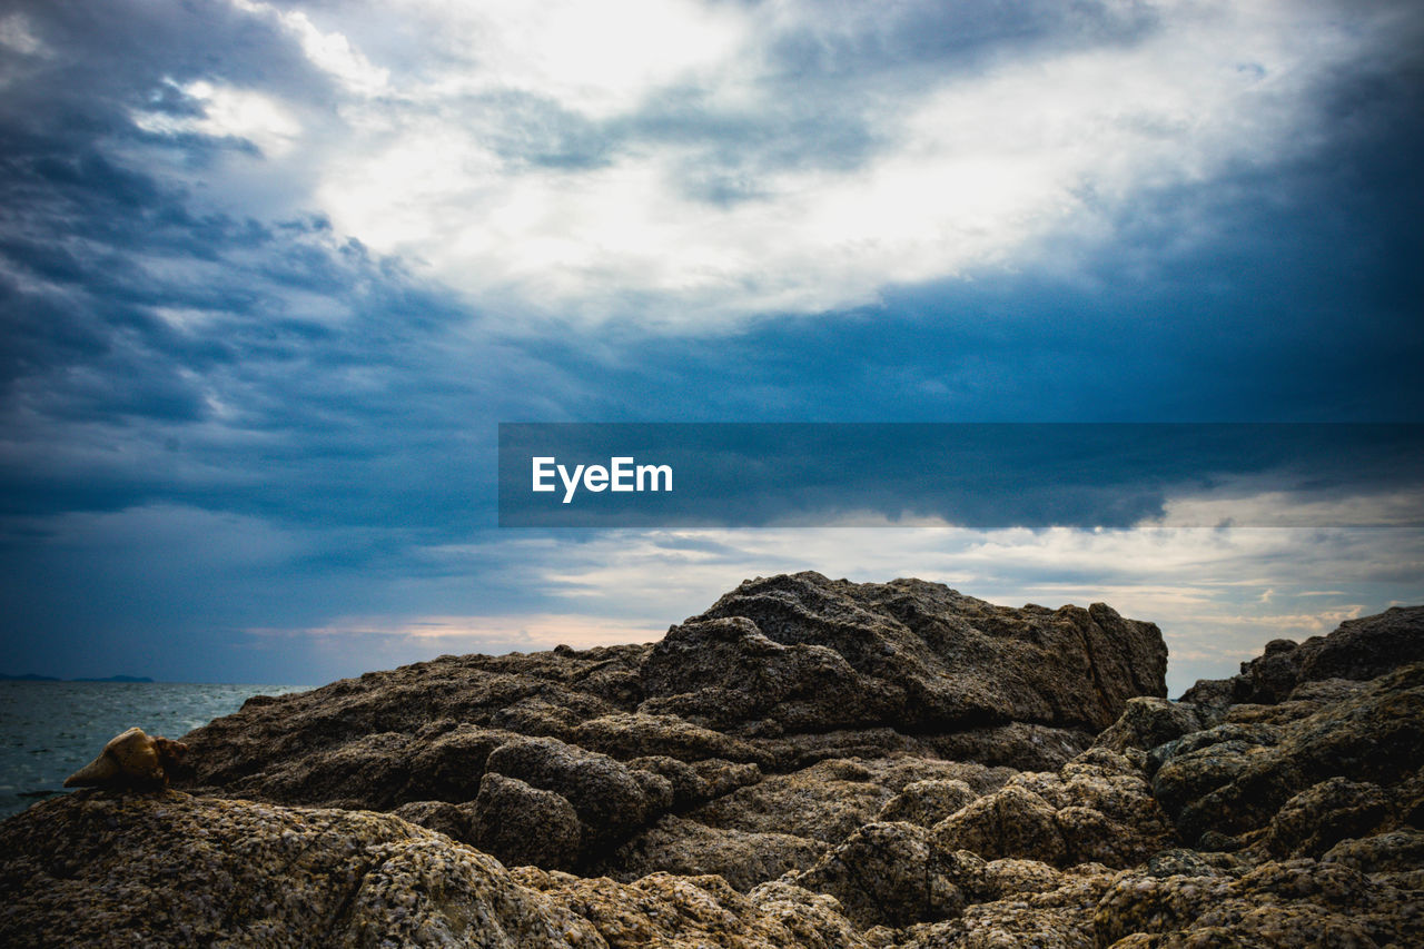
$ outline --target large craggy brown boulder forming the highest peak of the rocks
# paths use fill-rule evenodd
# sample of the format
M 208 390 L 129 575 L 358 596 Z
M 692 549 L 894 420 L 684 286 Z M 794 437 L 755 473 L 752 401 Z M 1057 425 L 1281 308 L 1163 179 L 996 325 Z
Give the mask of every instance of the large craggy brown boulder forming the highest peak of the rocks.
M 1098 731 L 1165 695 L 1155 626 L 1094 604 L 1012 610 L 921 580 L 756 579 L 674 627 L 644 664 L 645 707 L 716 728 L 916 734 L 1010 721 Z

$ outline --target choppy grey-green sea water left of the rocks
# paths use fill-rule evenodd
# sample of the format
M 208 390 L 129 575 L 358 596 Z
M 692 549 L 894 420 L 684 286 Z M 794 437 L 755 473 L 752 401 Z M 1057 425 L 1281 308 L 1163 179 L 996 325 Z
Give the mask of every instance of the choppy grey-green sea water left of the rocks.
M 134 725 L 150 735 L 181 738 L 238 711 L 252 695 L 308 688 L 0 681 L 0 818 L 67 794 L 64 778 L 93 761 L 110 738 Z

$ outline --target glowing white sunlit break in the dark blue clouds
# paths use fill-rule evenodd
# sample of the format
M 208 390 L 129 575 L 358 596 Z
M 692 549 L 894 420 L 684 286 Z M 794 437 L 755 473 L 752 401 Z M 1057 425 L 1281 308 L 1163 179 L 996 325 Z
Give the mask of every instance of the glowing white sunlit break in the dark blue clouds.
M 1316 84 L 1364 56 L 1371 28 L 1324 6 L 1163 3 L 1131 40 L 904 67 L 909 91 L 883 95 L 833 63 L 787 76 L 782 47 L 834 40 L 795 3 L 412 0 L 310 17 L 234 3 L 275 17 L 345 90 L 339 121 L 288 157 L 310 178 L 300 209 L 424 262 L 486 312 L 674 329 L 1017 265 L 1052 234 L 1106 237 L 1145 191 L 1289 158 L 1316 138 Z M 886 36 L 909 10 L 877 14 Z M 221 105 L 206 121 L 241 134 Z M 782 134 L 797 115 L 830 141 L 862 135 L 866 154 L 832 161 Z M 691 184 L 706 181 L 723 197 Z

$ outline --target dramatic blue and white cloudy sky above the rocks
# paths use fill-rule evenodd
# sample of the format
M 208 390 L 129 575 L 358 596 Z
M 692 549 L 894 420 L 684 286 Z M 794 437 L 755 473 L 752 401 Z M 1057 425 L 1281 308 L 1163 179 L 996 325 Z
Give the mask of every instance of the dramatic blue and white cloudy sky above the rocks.
M 1368 465 L 1132 523 L 496 490 L 501 422 L 1421 423 L 1421 117 L 1413 0 L 0 0 L 0 673 L 319 684 L 809 569 L 1106 601 L 1176 694 L 1421 603 Z

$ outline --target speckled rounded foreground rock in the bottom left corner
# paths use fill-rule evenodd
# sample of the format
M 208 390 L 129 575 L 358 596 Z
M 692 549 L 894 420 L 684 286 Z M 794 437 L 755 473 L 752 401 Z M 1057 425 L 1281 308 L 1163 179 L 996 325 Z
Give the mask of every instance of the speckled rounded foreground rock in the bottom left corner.
M 6 946 L 595 945 L 491 858 L 380 814 L 77 794 L 6 821 L 0 849 Z

